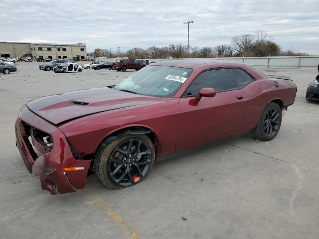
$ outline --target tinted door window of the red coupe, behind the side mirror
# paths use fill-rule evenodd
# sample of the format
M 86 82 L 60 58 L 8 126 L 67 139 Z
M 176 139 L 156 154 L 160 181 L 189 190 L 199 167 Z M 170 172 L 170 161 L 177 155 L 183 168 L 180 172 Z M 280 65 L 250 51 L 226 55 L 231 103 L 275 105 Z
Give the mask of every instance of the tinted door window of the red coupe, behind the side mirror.
M 195 96 L 205 87 L 216 92 L 238 89 L 237 81 L 231 69 L 209 70 L 201 73 L 185 91 L 184 96 Z

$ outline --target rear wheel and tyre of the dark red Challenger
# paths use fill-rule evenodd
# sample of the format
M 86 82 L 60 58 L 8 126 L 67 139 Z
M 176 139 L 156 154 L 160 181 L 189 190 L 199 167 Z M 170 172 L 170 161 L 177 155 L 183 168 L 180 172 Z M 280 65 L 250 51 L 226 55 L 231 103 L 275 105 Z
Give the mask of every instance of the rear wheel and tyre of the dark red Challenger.
M 276 137 L 282 120 L 282 110 L 274 102 L 268 104 L 260 117 L 253 135 L 262 141 L 269 141 Z

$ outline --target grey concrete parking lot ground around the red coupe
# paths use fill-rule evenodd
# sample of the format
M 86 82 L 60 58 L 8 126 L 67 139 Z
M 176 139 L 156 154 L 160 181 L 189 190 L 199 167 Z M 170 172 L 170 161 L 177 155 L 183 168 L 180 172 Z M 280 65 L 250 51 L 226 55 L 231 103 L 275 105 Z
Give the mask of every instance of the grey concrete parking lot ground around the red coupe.
M 206 145 L 157 163 L 147 180 L 121 190 L 90 175 L 85 189 L 50 195 L 15 147 L 19 108 L 35 97 L 114 85 L 135 71 L 55 74 L 38 65 L 0 74 L 0 238 L 319 238 L 319 104 L 305 100 L 315 69 L 263 69 L 298 86 L 272 141 Z

